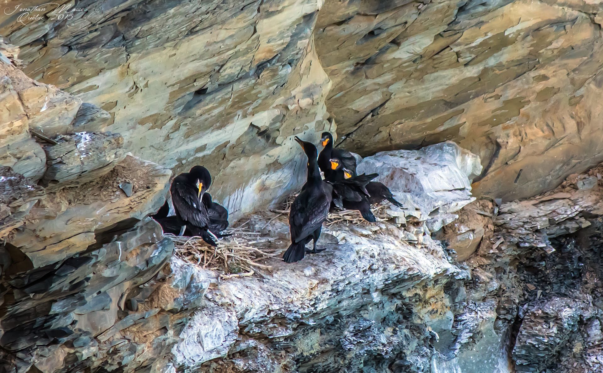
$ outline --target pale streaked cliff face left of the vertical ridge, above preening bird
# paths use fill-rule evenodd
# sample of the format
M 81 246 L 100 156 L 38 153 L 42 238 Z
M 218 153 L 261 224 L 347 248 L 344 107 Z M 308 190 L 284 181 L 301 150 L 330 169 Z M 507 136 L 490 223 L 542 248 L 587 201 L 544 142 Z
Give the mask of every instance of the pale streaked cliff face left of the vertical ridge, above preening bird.
M 175 174 L 207 166 L 233 218 L 297 188 L 305 161 L 292 136 L 317 142 L 327 125 L 330 81 L 312 42 L 322 1 L 168 1 L 144 16 L 134 4 L 92 2 L 66 22 L 0 32 L 30 77 L 109 111 L 99 128 L 74 127 L 119 133 Z M 46 33 L 48 45 L 33 41 Z

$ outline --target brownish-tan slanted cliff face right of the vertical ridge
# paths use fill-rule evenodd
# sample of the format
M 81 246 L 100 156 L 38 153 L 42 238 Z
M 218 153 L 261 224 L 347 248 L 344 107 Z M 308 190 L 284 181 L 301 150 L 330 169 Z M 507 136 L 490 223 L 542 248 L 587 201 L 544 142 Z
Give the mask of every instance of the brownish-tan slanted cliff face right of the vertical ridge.
M 453 140 L 482 160 L 475 192 L 505 200 L 603 160 L 599 2 L 327 0 L 323 10 L 317 51 L 345 148 Z

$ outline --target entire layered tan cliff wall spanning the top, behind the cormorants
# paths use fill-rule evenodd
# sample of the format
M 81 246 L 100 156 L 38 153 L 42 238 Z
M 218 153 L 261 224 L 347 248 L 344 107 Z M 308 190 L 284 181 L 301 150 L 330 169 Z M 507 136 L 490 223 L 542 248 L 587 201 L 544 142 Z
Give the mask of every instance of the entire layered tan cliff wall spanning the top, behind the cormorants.
M 476 192 L 504 200 L 603 160 L 593 2 L 52 4 L 0 12 L 25 74 L 76 97 L 80 131 L 119 133 L 174 172 L 207 165 L 235 218 L 300 185 L 294 134 L 336 127 L 361 155 L 453 140 L 481 158 Z M 28 149 L 4 153 L 34 175 L 43 154 Z

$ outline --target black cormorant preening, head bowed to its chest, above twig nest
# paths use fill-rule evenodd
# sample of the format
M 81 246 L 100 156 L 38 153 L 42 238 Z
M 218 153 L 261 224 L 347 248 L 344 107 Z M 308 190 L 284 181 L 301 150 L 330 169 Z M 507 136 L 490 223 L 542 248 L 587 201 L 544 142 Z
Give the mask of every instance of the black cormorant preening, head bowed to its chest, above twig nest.
M 177 222 L 181 227 L 179 236 L 189 228 L 195 236 L 200 236 L 212 246 L 218 246 L 217 237 L 209 231 L 207 208 L 201 202 L 201 195 L 211 183 L 209 171 L 203 166 L 194 166 L 191 171 L 174 178 L 170 192 Z

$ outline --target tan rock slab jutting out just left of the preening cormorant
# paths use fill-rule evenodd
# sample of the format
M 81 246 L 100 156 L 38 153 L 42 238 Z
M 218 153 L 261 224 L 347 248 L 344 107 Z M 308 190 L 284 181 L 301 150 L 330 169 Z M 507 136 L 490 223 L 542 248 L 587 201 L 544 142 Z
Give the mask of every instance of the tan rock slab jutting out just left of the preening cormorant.
M 102 242 L 104 231 L 155 212 L 163 204 L 170 176 L 169 170 L 128 155 L 95 181 L 48 193 L 30 213 L 35 222 L 8 243 L 27 255 L 34 267 L 66 259 Z M 133 185 L 130 197 L 120 183 Z

